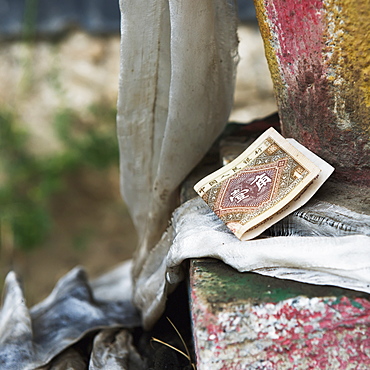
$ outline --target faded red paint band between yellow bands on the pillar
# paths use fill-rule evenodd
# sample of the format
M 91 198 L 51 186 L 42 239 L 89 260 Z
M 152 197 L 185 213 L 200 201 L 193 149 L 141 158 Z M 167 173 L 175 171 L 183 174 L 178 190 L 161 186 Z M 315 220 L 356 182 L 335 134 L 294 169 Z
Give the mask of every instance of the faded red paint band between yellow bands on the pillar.
M 265 4 L 271 32 L 278 40 L 274 50 L 282 79 L 277 95 L 283 134 L 320 153 L 327 146 L 320 137 L 322 122 L 334 121 L 322 58 L 323 3 L 275 0 Z M 325 134 L 330 135 L 330 130 Z M 326 140 L 330 142 L 327 136 Z

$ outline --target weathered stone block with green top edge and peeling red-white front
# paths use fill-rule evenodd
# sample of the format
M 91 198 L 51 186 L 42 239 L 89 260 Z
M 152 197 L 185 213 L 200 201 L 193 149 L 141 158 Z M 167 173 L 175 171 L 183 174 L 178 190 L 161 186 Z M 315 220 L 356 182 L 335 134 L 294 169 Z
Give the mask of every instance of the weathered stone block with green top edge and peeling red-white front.
M 370 295 L 190 261 L 198 370 L 369 369 Z

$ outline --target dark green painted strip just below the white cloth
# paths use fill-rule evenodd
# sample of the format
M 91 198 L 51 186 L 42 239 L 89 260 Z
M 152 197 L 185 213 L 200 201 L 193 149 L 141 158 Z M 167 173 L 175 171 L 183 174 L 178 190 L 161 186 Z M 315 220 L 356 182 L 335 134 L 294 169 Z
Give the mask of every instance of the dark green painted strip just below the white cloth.
M 194 281 L 193 289 L 205 301 L 213 304 L 249 301 L 250 304 L 280 302 L 298 296 L 343 297 L 349 299 L 370 298 L 366 293 L 356 292 L 332 286 L 319 286 L 299 283 L 259 275 L 241 273 L 215 259 L 197 259 L 191 261 Z

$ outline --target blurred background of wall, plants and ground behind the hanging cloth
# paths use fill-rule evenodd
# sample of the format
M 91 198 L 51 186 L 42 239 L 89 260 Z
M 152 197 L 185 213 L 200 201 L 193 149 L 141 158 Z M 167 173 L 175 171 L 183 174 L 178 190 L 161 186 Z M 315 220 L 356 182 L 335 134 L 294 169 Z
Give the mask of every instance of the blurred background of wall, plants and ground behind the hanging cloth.
M 251 0 L 240 0 L 235 104 L 242 123 L 276 111 Z M 91 277 L 130 258 L 119 194 L 116 0 L 0 0 L 0 279 L 28 305 L 76 265 Z M 0 283 L 2 286 L 2 283 Z

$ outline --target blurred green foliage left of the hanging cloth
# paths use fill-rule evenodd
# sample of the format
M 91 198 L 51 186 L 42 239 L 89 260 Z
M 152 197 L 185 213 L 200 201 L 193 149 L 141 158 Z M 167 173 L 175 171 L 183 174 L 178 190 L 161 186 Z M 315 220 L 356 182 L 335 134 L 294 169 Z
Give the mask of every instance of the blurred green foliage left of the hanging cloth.
M 117 164 L 115 109 L 99 104 L 86 116 L 69 109 L 58 112 L 53 127 L 64 149 L 40 156 L 30 148 L 26 125 L 0 109 L 0 243 L 39 246 L 52 227 L 51 199 L 66 177 L 82 167 L 103 170 Z

